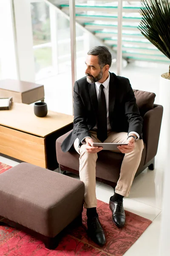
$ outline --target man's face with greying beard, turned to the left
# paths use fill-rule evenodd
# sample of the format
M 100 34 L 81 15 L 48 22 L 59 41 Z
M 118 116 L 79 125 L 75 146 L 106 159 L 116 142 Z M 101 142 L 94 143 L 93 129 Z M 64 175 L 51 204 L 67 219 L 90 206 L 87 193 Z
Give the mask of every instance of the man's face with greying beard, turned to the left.
M 98 56 L 87 55 L 85 74 L 87 76 L 88 83 L 95 83 L 102 79 L 103 71 L 98 63 Z

